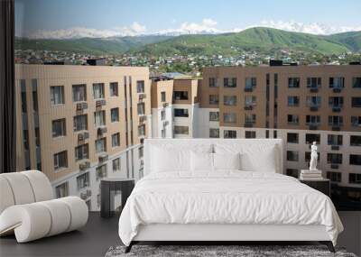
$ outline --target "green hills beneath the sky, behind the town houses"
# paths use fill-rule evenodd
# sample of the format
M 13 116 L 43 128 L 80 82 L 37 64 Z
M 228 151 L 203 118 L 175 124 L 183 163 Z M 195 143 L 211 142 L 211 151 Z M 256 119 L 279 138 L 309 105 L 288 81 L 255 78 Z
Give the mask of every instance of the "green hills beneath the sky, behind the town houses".
M 361 32 L 314 35 L 255 27 L 223 34 L 143 35 L 68 40 L 16 38 L 15 49 L 62 50 L 90 54 L 235 55 L 242 50 L 299 50 L 319 54 L 361 53 Z

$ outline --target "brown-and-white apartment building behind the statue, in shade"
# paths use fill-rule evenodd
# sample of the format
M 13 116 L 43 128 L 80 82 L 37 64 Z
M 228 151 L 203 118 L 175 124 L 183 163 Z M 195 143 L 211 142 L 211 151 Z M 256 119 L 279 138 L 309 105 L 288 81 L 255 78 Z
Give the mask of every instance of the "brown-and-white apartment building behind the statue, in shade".
M 361 66 L 213 67 L 199 87 L 198 137 L 282 138 L 285 174 L 307 169 L 310 143 L 333 197 L 361 201 Z

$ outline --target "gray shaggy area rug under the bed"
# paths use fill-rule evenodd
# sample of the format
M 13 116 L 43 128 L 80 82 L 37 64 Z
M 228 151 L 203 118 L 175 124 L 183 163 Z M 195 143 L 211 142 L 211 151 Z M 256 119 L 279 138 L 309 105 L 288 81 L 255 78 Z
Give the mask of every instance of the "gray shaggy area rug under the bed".
M 354 253 L 336 248 L 336 253 L 329 252 L 324 245 L 134 245 L 132 251 L 125 253 L 125 246 L 110 247 L 106 257 L 131 256 L 339 256 L 356 257 Z

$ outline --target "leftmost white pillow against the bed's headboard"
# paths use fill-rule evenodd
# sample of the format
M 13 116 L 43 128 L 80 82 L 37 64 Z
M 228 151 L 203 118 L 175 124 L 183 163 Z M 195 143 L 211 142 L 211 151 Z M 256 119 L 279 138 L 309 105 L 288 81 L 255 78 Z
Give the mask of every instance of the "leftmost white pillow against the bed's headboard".
M 190 150 L 153 147 L 151 172 L 190 170 Z

